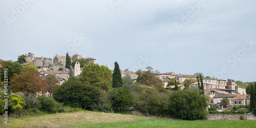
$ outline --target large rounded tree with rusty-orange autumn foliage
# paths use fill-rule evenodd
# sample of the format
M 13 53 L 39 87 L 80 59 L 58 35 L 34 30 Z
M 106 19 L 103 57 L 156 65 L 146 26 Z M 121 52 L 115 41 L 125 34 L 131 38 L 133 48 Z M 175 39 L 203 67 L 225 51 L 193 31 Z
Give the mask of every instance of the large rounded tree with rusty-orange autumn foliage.
M 27 71 L 14 74 L 10 88 L 13 92 L 25 92 L 26 94 L 35 94 L 36 92 L 45 92 L 45 81 L 40 77 L 40 73 L 33 68 Z

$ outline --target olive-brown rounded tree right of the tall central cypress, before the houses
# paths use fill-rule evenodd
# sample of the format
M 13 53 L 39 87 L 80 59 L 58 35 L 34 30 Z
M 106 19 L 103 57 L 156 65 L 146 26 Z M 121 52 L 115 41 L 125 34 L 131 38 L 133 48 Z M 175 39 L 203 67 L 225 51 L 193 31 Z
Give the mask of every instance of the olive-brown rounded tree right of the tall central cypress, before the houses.
M 154 77 L 150 74 L 150 71 L 143 72 L 141 75 L 138 76 L 137 82 L 146 84 L 150 87 L 155 87 L 158 82 L 162 83 L 162 80 L 158 77 Z

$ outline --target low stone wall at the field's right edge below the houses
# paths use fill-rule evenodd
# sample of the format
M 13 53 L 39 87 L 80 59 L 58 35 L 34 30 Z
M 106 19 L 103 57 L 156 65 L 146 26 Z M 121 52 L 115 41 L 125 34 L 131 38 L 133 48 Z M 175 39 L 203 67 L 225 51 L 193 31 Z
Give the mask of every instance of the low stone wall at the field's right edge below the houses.
M 208 120 L 240 120 L 240 116 L 244 116 L 245 120 L 256 120 L 254 114 L 209 114 Z

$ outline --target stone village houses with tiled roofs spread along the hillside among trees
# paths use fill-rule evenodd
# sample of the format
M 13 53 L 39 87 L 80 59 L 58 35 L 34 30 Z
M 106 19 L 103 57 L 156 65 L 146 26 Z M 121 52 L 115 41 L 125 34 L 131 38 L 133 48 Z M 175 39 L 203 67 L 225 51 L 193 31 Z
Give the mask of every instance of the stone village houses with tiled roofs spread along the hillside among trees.
M 35 66 L 38 67 L 41 76 L 55 75 L 59 83 L 67 81 L 71 76 L 79 76 L 82 72 L 82 67 L 80 63 L 75 62 L 74 68 L 71 66 L 70 69 L 65 68 L 66 65 L 66 56 L 55 55 L 53 60 L 46 57 L 35 57 L 33 53 L 25 54 L 26 63 L 22 65 L 25 67 L 27 63 L 32 62 Z M 76 59 L 83 58 L 81 55 L 75 54 L 70 57 L 71 62 Z M 96 59 L 92 57 L 84 58 L 87 63 L 93 62 L 96 63 Z M 59 69 L 63 69 L 59 71 Z M 130 75 L 133 82 L 136 82 L 138 75 L 133 71 L 123 71 L 120 70 L 121 77 Z M 142 71 L 145 72 L 145 71 Z M 112 70 L 113 73 L 113 70 Z M 196 74 L 186 75 L 186 74 L 175 74 L 174 72 L 166 73 L 156 73 L 154 71 L 150 72 L 154 77 L 158 77 L 162 80 L 163 86 L 165 89 L 173 89 L 175 86 L 168 86 L 168 82 L 175 78 L 180 82 L 178 87 L 182 90 L 185 88 L 184 81 L 186 79 L 196 79 Z M 250 97 L 246 95 L 246 89 L 243 86 L 238 86 L 233 79 L 218 79 L 218 78 L 202 78 L 204 84 L 204 93 L 210 94 L 211 102 L 208 103 L 212 106 L 219 106 L 223 98 L 227 98 L 232 105 L 248 105 Z M 189 84 L 189 87 L 197 87 L 198 82 Z M 49 94 L 48 94 L 49 96 Z

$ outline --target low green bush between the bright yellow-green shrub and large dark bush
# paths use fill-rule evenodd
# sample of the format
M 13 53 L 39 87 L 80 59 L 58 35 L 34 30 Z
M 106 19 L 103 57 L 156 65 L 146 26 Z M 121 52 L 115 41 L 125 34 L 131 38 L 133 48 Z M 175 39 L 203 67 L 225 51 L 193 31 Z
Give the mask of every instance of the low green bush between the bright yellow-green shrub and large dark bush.
M 39 108 L 40 111 L 53 113 L 61 110 L 61 104 L 55 101 L 52 97 L 38 96 L 37 99 L 41 104 L 41 107 Z

